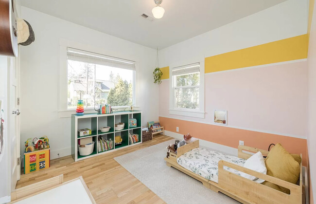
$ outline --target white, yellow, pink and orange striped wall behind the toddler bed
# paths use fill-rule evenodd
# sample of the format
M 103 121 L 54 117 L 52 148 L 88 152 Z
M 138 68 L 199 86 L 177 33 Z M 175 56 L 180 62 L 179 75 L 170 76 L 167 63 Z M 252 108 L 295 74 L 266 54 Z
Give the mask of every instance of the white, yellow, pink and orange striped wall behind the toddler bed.
M 230 148 L 239 140 L 263 149 L 280 142 L 306 164 L 307 8 L 307 0 L 287 0 L 159 51 L 165 67 L 159 120 L 166 132 L 176 135 L 179 127 Z M 169 114 L 169 66 L 200 58 L 205 118 Z M 228 126 L 214 124 L 214 110 L 228 111 Z

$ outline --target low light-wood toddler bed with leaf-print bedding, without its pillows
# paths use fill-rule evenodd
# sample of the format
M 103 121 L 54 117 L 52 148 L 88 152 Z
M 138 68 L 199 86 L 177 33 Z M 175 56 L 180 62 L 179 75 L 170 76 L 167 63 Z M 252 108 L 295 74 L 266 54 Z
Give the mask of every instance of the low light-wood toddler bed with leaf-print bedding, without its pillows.
M 228 156 L 199 148 L 199 140 L 196 140 L 177 148 L 177 154 L 170 152 L 169 158 L 165 158 L 165 161 L 168 167 L 174 167 L 202 182 L 211 190 L 220 191 L 243 204 L 303 204 L 301 161 L 296 185 L 243 167 L 246 159 L 258 151 L 263 156 L 269 153 L 258 148 L 239 146 L 238 157 Z M 240 176 L 241 172 L 263 179 L 269 185 L 244 178 Z M 274 186 L 289 189 L 289 194 L 274 189 Z

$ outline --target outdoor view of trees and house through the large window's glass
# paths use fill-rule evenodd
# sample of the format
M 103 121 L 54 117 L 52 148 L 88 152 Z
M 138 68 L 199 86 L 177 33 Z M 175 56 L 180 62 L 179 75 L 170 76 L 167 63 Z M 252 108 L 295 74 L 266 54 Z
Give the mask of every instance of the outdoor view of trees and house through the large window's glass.
M 100 104 L 130 106 L 133 103 L 133 70 L 68 60 L 68 109 L 79 99 L 85 108 Z

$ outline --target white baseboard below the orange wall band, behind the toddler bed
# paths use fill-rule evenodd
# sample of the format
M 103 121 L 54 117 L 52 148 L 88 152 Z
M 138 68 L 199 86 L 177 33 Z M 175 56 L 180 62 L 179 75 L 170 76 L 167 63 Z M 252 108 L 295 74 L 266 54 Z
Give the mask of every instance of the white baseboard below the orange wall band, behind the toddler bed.
M 170 136 L 170 137 L 174 137 L 174 138 L 176 138 L 176 139 L 178 139 L 180 141 L 183 140 L 183 134 L 179 134 L 179 133 L 176 133 L 176 132 L 165 130 L 165 135 Z M 237 148 L 231 148 L 231 147 L 228 147 L 228 146 L 225 146 L 225 145 L 220 145 L 220 144 L 209 142 L 209 141 L 206 141 L 206 140 L 201 140 L 201 139 L 199 139 L 199 140 L 200 140 L 200 146 L 204 146 L 206 148 L 211 148 L 211 149 L 214 149 L 214 150 L 217 150 L 217 151 L 221 151 L 221 152 L 233 155 L 233 156 L 237 156 L 238 155 L 238 149 Z

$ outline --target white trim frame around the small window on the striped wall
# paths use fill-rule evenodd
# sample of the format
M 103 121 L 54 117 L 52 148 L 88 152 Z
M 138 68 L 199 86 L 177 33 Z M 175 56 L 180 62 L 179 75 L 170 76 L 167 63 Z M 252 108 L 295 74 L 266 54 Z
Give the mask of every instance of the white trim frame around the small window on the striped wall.
M 199 85 L 199 109 L 181 109 L 176 108 L 176 101 L 175 101 L 175 76 L 172 75 L 172 71 L 180 66 L 185 66 L 189 64 L 199 63 L 200 64 L 200 85 Z M 188 116 L 188 117 L 197 117 L 197 118 L 204 118 L 205 112 L 204 112 L 204 58 L 200 58 L 197 60 L 191 60 L 191 61 L 183 61 L 181 63 L 175 63 L 169 66 L 169 114 L 173 115 L 182 115 L 182 116 Z M 193 86 L 190 86 L 193 87 Z

